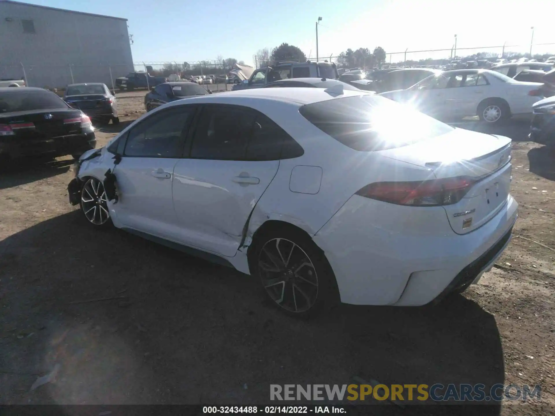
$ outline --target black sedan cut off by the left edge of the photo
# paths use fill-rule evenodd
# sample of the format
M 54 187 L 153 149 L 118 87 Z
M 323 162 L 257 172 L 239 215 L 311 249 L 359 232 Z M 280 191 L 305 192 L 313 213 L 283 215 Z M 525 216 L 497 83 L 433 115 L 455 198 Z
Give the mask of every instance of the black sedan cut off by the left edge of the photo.
M 90 118 L 58 95 L 42 88 L 0 88 L 2 162 L 23 156 L 78 158 L 96 144 Z

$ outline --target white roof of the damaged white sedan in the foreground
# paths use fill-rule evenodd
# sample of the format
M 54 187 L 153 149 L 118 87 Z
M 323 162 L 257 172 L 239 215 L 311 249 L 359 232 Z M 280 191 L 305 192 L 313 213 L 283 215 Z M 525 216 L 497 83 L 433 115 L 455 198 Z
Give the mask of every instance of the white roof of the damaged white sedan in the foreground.
M 203 103 L 209 102 L 248 102 L 251 100 L 275 100 L 285 103 L 296 103 L 300 105 L 318 103 L 321 101 L 331 100 L 335 98 L 354 97 L 357 95 L 372 95 L 360 90 L 343 90 L 343 94 L 334 94 L 327 92 L 324 88 L 256 88 L 231 91 L 225 94 L 209 94 L 202 97 L 193 97 L 187 99 L 188 103 L 193 100 Z M 179 105 L 177 100 L 169 105 Z M 183 104 L 183 103 L 181 103 Z

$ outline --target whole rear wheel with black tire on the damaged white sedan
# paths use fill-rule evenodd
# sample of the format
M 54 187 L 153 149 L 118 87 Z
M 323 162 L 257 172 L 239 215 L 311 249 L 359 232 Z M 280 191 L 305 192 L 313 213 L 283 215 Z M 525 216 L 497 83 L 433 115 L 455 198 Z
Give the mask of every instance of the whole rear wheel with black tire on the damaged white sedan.
M 334 272 L 308 235 L 287 225 L 261 233 L 249 250 L 249 267 L 273 305 L 290 316 L 309 317 L 339 303 Z

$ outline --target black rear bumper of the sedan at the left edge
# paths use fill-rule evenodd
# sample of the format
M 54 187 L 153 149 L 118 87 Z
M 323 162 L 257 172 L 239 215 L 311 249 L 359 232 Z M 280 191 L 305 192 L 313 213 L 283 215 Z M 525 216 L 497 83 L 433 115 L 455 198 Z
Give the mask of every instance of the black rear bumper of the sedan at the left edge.
M 44 139 L 2 139 L 0 140 L 0 155 L 7 155 L 10 159 L 42 155 L 56 157 L 84 153 L 94 149 L 96 145 L 97 139 L 94 131 Z

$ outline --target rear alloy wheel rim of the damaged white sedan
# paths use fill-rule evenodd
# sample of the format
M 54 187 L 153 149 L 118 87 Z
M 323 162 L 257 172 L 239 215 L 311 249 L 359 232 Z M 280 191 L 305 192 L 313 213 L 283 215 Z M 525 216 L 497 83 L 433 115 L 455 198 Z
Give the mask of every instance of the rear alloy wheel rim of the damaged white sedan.
M 308 311 L 318 297 L 318 276 L 310 257 L 294 242 L 277 238 L 266 241 L 258 266 L 268 295 L 293 313 Z

